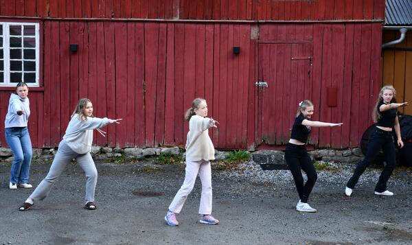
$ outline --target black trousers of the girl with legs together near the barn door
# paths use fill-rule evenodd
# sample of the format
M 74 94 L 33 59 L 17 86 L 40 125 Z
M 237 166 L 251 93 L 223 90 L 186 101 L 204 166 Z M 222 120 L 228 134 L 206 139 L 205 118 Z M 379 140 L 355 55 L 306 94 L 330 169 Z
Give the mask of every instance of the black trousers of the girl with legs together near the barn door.
M 295 180 L 297 193 L 301 202 L 308 202 L 310 192 L 312 192 L 314 183 L 317 180 L 317 173 L 305 145 L 295 145 L 288 143 L 285 151 L 286 164 L 288 164 L 290 172 L 292 172 Z M 304 170 L 308 180 L 304 184 L 304 177 L 301 170 Z

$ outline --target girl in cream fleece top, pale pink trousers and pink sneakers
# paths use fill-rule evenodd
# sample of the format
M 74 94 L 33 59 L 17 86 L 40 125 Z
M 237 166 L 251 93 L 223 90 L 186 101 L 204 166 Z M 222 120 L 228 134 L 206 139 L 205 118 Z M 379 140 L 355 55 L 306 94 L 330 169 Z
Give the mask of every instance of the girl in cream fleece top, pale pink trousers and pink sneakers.
M 194 187 L 197 175 L 202 182 L 201 205 L 199 214 L 203 224 L 218 224 L 211 215 L 211 167 L 210 160 L 214 160 L 214 146 L 211 143 L 208 129 L 217 128 L 218 121 L 207 118 L 206 100 L 197 98 L 192 103 L 192 108 L 185 113 L 185 119 L 189 121 L 189 132 L 186 141 L 186 168 L 185 181 L 177 191 L 176 196 L 169 206 L 165 220 L 170 226 L 179 225 L 175 213 L 180 213 L 183 204 Z

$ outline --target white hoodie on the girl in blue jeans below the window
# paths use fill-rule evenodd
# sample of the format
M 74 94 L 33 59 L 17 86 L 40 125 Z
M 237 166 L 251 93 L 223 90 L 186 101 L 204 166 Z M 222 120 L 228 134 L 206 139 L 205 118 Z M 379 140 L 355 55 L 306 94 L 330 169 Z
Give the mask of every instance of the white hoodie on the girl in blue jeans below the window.
M 17 115 L 17 110 L 24 110 L 23 115 Z M 30 117 L 29 97 L 22 99 L 19 95 L 10 95 L 7 115 L 5 115 L 4 128 L 27 127 Z

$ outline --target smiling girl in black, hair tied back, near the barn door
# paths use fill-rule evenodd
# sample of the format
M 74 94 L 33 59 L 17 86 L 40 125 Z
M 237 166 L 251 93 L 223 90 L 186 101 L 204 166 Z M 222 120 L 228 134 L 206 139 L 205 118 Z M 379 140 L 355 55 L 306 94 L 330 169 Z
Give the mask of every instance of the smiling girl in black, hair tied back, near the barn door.
M 317 180 L 317 173 L 308 151 L 306 150 L 306 141 L 312 127 L 334 127 L 342 124 L 331 124 L 321 121 L 310 121 L 313 114 L 313 104 L 309 100 L 304 100 L 299 103 L 295 123 L 293 124 L 290 140 L 286 145 L 285 159 L 295 180 L 297 193 L 299 194 L 299 202 L 297 202 L 296 210 L 302 212 L 316 212 L 308 205 L 308 198 L 314 183 Z M 308 180 L 304 184 L 304 178 L 301 170 L 304 170 Z

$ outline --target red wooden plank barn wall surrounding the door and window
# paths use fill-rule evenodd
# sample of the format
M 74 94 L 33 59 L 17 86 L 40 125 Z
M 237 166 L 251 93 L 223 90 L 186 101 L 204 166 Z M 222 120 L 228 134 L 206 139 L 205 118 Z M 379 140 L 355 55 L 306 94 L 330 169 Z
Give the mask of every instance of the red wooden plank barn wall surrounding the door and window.
M 12 3 L 17 2 L 25 6 L 20 12 L 19 8 L 12 8 Z M 130 8 L 122 7 L 132 2 Z M 171 0 L 165 2 L 165 8 L 170 7 L 167 3 L 172 4 L 175 19 L 202 19 L 201 12 L 196 15 L 200 17 L 190 14 L 191 6 L 201 2 Z M 220 9 L 216 1 L 204 1 L 203 19 L 244 19 L 244 14 L 239 14 L 243 12 L 247 13 L 246 19 L 249 12 L 249 19 L 382 19 L 384 8 L 383 1 L 378 0 L 344 1 L 344 5 L 338 0 L 244 2 L 246 10 L 238 6 L 237 14 L 227 15 L 226 10 L 232 10 L 229 8 L 232 1 L 218 1 Z M 315 119 L 344 122 L 341 128 L 314 130 L 310 143 L 333 148 L 357 146 L 371 121 L 370 109 L 380 86 L 380 82 L 375 82 L 380 79 L 380 23 L 325 22 L 306 23 L 302 27 L 297 23 L 65 21 L 53 18 L 110 18 L 113 12 L 115 18 L 169 19 L 166 13 L 171 10 L 145 15 L 146 11 L 158 10 L 156 4 L 160 1 L 148 1 L 150 5 L 146 1 L 45 0 L 34 5 L 34 1 L 0 0 L 0 3 L 2 16 L 42 17 L 39 21 L 43 23 L 44 91 L 30 92 L 34 147 L 58 145 L 80 97 L 92 100 L 98 117 L 124 118 L 122 124 L 106 128 L 108 137 L 95 135 L 97 145 L 182 145 L 187 133 L 183 113 L 194 97 L 201 96 L 206 98 L 211 116 L 220 121 L 220 127 L 211 130 L 216 147 L 254 148 L 256 44 L 260 40 L 277 40 L 279 36 L 295 38 L 302 28 L 313 40 L 310 97 L 317 108 Z M 213 12 L 207 15 L 210 3 Z M 304 5 L 310 8 L 303 8 Z M 130 10 L 131 15 L 122 10 Z M 289 10 L 295 15 L 287 14 Z M 179 16 L 173 14 L 175 11 Z M 260 29 L 259 40 L 251 38 L 251 30 L 256 27 Z M 70 43 L 78 43 L 78 52 L 69 52 Z M 233 56 L 233 46 L 241 47 L 238 56 Z M 336 107 L 325 106 L 328 86 L 338 88 Z M 5 116 L 8 97 L 10 91 L 0 91 L 1 118 Z M 290 110 L 294 111 L 292 107 Z M 290 114 L 293 117 L 294 113 Z M 0 121 L 3 128 L 3 120 Z M 293 118 L 288 121 L 292 124 Z M 1 145 L 5 145 L 3 133 L 0 137 Z

